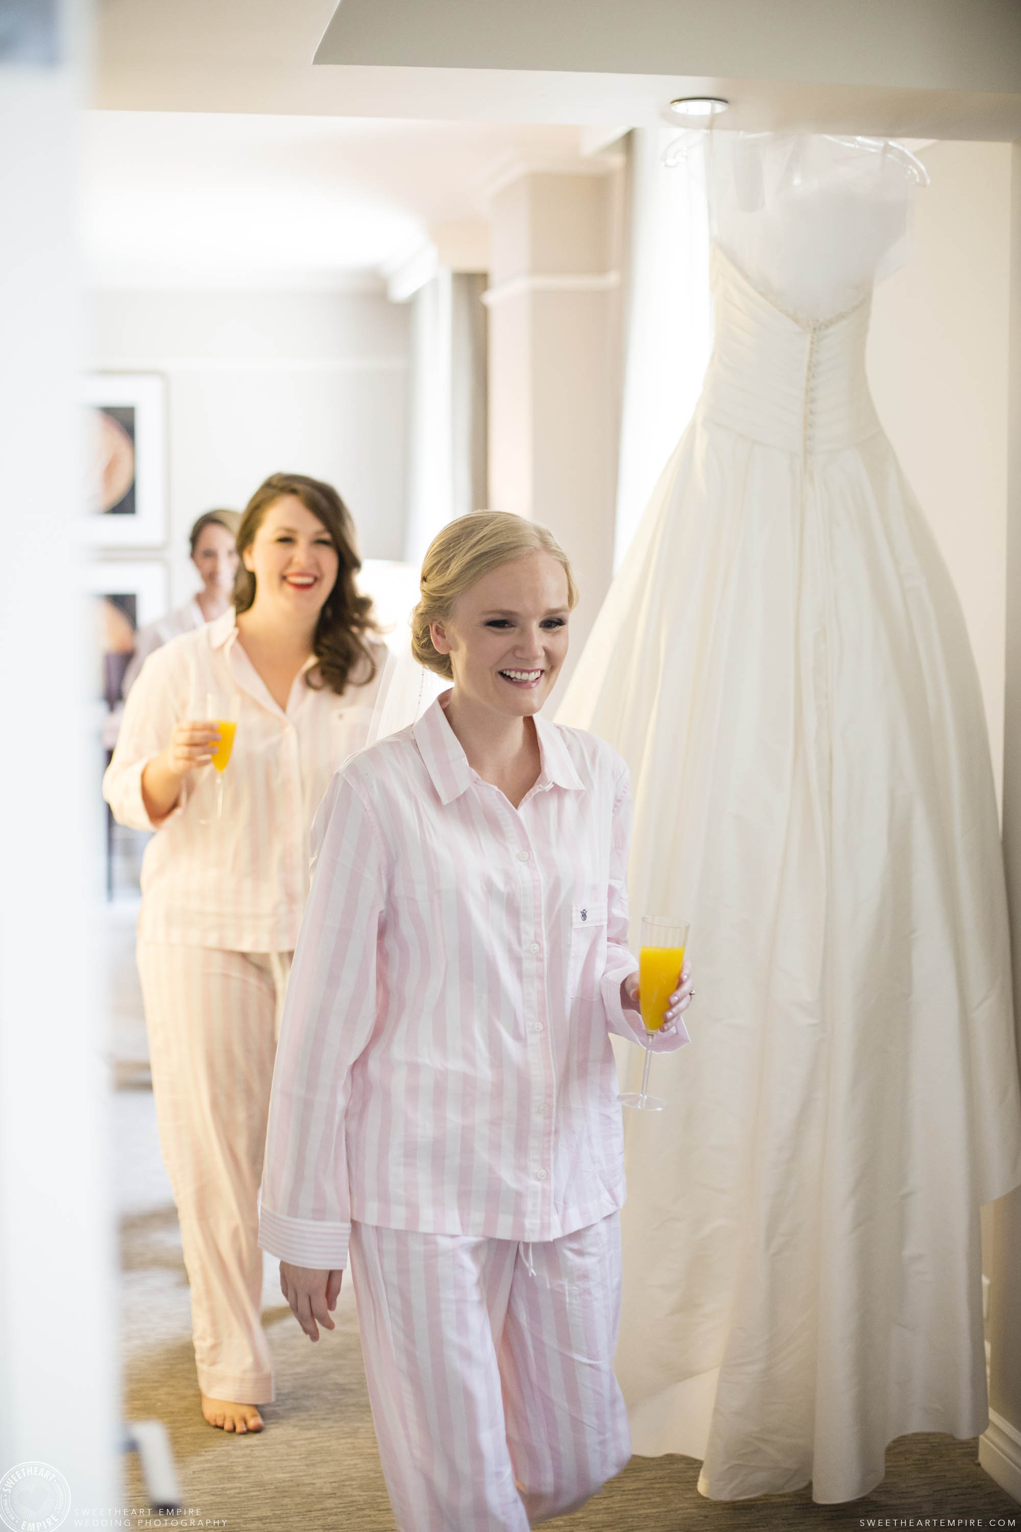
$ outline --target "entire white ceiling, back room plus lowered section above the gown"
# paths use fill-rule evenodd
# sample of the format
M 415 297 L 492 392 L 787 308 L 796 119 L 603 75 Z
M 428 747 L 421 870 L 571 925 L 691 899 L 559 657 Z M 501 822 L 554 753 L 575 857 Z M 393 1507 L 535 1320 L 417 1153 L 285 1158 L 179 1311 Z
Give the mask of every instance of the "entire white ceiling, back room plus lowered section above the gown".
M 794 26 L 805 8 L 814 31 Z M 89 277 L 343 286 L 375 274 L 378 285 L 438 225 L 478 221 L 487 187 L 514 165 L 600 169 L 583 150 L 606 141 L 606 124 L 657 121 L 683 93 L 729 97 L 733 127 L 1021 135 L 1021 57 L 1004 46 L 1018 0 L 895 9 L 888 0 L 343 0 L 340 9 L 335 0 L 99 0 L 93 101 L 104 110 L 86 113 L 83 133 Z M 621 18 L 631 18 L 623 32 Z M 652 44 L 667 23 L 660 57 Z M 320 58 L 341 61 L 314 64 L 328 28 Z M 749 38 L 758 38 L 750 54 Z M 856 38 L 860 58 L 845 46 Z M 762 77 L 641 74 L 641 47 L 646 67 L 758 60 Z M 854 78 L 840 72 L 845 55 Z M 488 67 L 468 67 L 470 57 Z M 634 72 L 599 72 L 608 63 Z

